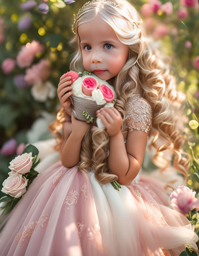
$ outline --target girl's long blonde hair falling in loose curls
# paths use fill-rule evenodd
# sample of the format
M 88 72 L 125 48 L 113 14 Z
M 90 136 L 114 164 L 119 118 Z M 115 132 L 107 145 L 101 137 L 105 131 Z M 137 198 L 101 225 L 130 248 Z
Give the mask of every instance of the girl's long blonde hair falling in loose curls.
M 186 184 L 190 155 L 182 149 L 184 143 L 182 117 L 185 118 L 185 116 L 180 111 L 180 105 L 186 97 L 184 93 L 176 90 L 176 80 L 171 74 L 168 56 L 163 56 L 157 49 L 153 49 L 153 42 L 150 43 L 147 39 L 143 25 L 142 28 L 133 27 L 133 22 L 140 20 L 137 10 L 126 0 L 115 2 L 121 6 L 121 9 L 108 2 L 95 2 L 87 6 L 76 21 L 77 27 L 100 15 L 113 28 L 118 39 L 129 46 L 129 56 L 125 65 L 118 75 L 111 79 L 117 94 L 115 108 L 123 118 L 122 129 L 126 124 L 125 105 L 131 94 L 137 89 L 142 89 L 143 97 L 153 110 L 152 129 L 149 136 L 152 130 L 153 136 L 155 131 L 155 136 L 149 147 L 153 146 L 156 152 L 152 161 L 163 171 L 169 166 L 173 157 L 173 165 L 184 175 L 184 184 Z M 70 63 L 70 70 L 83 72 L 77 29 L 69 43 L 76 49 Z M 162 145 L 158 145 L 158 137 L 162 142 L 164 141 Z M 165 157 L 168 152 L 170 159 Z M 117 175 L 109 172 L 108 155 L 109 136 L 106 129 L 91 126 L 82 140 L 79 169 L 88 172 L 88 168 L 92 166 L 95 169 L 96 179 L 103 184 L 117 180 Z

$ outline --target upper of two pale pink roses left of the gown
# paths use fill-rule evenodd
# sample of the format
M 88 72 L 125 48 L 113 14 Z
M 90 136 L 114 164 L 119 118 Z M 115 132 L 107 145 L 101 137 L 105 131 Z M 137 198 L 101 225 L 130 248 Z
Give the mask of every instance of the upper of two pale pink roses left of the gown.
M 14 173 L 25 174 L 29 172 L 33 164 L 33 158 L 32 152 L 16 156 L 15 159 L 12 159 L 9 163 L 10 165 L 8 168 L 12 171 L 9 172 L 9 175 L 13 175 Z

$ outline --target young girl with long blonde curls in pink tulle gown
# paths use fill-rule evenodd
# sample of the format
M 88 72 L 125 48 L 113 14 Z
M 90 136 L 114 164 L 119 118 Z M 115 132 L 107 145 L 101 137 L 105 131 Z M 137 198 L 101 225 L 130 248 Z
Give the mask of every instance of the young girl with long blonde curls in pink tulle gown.
M 104 128 L 71 116 L 61 160 L 39 164 L 43 172 L 1 232 L 0 254 L 178 256 L 185 244 L 197 252 L 198 236 L 169 207 L 166 183 L 139 176 L 149 134 L 159 167 L 168 167 L 163 153 L 172 152 L 174 167 L 187 177 L 189 159 L 174 117 L 183 95 L 147 44 L 137 11 L 126 0 L 89 1 L 76 15 L 73 32 L 77 50 L 70 69 L 108 81 L 117 102 L 96 112 Z M 70 84 L 71 77 L 63 75 L 57 89 L 69 115 Z M 165 141 L 161 147 L 157 134 Z M 114 180 L 121 191 L 111 185 Z

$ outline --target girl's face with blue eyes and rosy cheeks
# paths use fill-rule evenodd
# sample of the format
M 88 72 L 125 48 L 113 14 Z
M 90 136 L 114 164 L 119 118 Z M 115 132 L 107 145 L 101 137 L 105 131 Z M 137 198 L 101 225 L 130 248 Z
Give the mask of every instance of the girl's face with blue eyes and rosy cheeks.
M 126 63 L 129 47 L 119 41 L 113 28 L 96 16 L 79 25 L 78 34 L 85 70 L 106 81 L 116 76 Z

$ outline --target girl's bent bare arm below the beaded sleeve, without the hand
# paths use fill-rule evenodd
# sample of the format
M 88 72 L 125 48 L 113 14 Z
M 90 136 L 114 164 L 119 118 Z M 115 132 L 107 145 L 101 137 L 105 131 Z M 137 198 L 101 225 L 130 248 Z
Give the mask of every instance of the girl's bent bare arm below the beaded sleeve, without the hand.
M 122 132 L 110 137 L 108 165 L 110 172 L 118 176 L 119 183 L 129 183 L 137 176 L 144 159 L 148 133 L 128 132 L 126 147 Z

